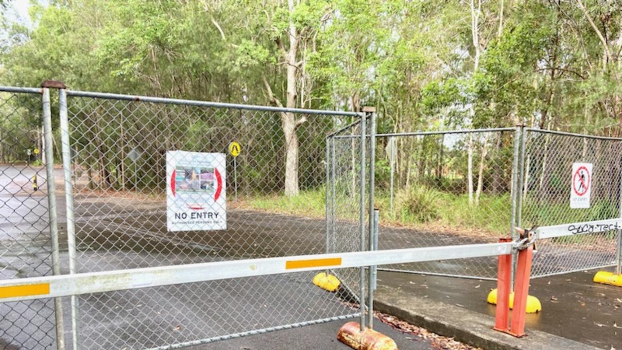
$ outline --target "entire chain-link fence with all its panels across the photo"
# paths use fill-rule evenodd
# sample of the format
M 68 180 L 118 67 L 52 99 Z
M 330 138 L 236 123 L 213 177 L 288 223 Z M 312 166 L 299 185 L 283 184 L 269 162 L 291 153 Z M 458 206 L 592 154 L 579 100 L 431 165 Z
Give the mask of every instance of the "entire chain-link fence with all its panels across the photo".
M 4 279 L 60 273 L 53 158 L 63 161 L 70 273 L 366 250 L 374 206 L 379 249 L 620 217 L 621 139 L 521 127 L 375 135 L 359 113 L 64 89 L 58 106 L 52 135 L 47 88 L 0 88 Z M 587 177 L 573 174 L 577 163 Z M 575 179 L 591 191 L 583 209 L 569 204 Z M 620 238 L 538 242 L 532 275 L 615 265 Z M 496 267 L 491 257 L 383 268 L 494 279 Z M 364 301 L 367 273 L 332 273 L 337 293 L 302 272 L 74 296 L 73 346 L 177 348 L 361 316 L 364 303 L 349 302 Z M 1 303 L 0 346 L 61 348 L 61 306 Z

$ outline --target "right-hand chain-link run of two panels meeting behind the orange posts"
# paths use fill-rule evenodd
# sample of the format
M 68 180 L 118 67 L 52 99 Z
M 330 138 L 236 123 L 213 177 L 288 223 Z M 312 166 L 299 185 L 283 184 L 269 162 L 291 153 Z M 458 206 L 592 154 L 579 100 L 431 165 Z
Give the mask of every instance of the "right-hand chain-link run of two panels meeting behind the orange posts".
M 381 249 L 496 242 L 516 237 L 514 225 L 620 217 L 620 139 L 503 128 L 379 134 L 376 143 Z M 575 163 L 593 165 L 585 209 L 570 206 Z M 619 264 L 620 242 L 616 231 L 543 240 L 532 276 Z M 383 269 L 494 279 L 496 259 Z

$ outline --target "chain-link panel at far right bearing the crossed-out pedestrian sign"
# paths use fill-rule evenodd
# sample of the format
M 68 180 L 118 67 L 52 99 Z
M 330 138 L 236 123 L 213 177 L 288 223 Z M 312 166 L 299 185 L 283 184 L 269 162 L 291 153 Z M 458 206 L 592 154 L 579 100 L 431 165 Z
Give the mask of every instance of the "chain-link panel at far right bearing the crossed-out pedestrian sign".
M 620 217 L 622 139 L 530 128 L 523 137 L 522 227 Z M 541 240 L 532 276 L 613 266 L 618 244 L 620 230 Z

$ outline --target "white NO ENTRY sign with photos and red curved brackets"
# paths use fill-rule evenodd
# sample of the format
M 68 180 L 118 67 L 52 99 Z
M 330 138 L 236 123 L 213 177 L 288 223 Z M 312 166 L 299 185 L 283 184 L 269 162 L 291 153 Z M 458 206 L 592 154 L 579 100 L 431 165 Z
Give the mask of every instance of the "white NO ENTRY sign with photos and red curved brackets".
M 166 153 L 166 226 L 169 231 L 226 230 L 223 153 Z

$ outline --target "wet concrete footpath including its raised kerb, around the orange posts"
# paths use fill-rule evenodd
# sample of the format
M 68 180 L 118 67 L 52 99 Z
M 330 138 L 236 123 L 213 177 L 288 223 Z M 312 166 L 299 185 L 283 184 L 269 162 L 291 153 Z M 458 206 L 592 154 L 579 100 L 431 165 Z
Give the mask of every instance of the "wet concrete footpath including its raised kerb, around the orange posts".
M 622 349 L 622 288 L 592 283 L 593 271 L 531 281 L 542 313 L 527 315 L 527 336 L 493 331 L 494 281 L 379 272 L 376 310 L 443 336 L 496 349 Z

